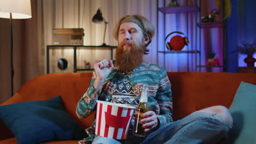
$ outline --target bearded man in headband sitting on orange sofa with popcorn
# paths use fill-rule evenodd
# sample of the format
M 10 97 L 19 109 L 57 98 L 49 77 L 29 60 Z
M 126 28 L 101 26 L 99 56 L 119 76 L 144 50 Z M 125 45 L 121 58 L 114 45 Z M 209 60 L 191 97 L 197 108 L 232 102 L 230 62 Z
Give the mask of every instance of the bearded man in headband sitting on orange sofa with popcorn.
M 87 92 L 78 101 L 77 115 L 89 116 L 95 111 L 96 100 L 137 106 L 142 87 L 147 84 L 149 111 L 141 122 L 146 137 L 133 136 L 114 140 L 94 134 L 95 122 L 86 129 L 83 143 L 208 143 L 222 139 L 231 128 L 232 117 L 224 106 L 212 106 L 191 113 L 173 122 L 171 83 L 166 71 L 158 64 L 143 62 L 147 46 L 154 36 L 154 26 L 141 15 L 127 15 L 119 20 L 114 37 L 118 40 L 116 62 L 103 61 L 94 65 Z M 211 127 L 211 128 L 209 128 Z

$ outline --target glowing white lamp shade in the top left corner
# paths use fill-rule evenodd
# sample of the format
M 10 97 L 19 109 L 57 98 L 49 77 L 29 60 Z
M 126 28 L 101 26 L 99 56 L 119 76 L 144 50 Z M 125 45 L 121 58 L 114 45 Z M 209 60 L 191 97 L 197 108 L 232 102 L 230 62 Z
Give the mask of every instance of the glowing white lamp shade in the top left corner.
M 30 0 L 0 0 L 0 17 L 10 19 L 29 19 L 31 15 Z

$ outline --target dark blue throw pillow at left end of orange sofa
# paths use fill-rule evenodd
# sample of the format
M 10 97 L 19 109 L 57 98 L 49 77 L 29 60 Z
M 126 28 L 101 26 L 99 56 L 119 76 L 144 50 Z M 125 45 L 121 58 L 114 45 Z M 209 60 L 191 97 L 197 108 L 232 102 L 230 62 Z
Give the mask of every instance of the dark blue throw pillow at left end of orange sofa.
M 82 140 L 85 131 L 69 116 L 61 97 L 0 106 L 0 118 L 18 144 L 48 140 Z

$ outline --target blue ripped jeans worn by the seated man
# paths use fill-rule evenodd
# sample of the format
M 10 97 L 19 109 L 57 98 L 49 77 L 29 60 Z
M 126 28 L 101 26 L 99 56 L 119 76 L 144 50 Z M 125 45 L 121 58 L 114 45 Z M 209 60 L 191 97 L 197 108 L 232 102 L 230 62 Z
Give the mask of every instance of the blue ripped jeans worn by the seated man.
M 129 135 L 126 140 L 114 140 L 107 137 L 95 136 L 92 144 L 217 143 L 228 134 L 231 128 L 231 125 L 219 119 L 221 117 L 217 113 L 211 115 L 206 112 L 196 111 L 181 120 L 150 130 L 147 136 L 143 138 Z

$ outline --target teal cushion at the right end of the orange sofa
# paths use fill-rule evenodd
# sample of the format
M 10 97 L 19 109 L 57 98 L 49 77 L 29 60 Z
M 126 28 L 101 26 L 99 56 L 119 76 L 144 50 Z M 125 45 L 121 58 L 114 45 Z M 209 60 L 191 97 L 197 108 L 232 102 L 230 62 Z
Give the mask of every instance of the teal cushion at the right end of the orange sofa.
M 234 120 L 234 127 L 230 130 L 229 143 L 256 142 L 256 85 L 241 82 L 234 100 L 229 107 Z

